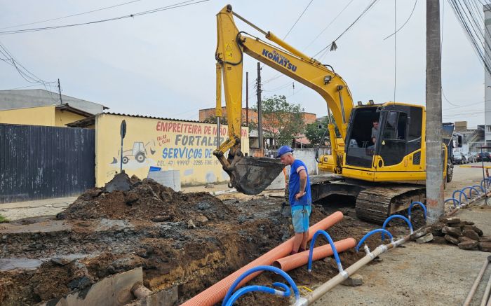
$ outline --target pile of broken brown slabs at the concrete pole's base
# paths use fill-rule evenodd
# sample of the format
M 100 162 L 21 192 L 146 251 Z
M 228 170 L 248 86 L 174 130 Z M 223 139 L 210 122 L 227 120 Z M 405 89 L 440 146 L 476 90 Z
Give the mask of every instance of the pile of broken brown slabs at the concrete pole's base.
M 431 225 L 430 232 L 434 237 L 433 242 L 455 244 L 464 250 L 491 252 L 491 236 L 485 236 L 471 221 L 443 218 L 439 223 Z

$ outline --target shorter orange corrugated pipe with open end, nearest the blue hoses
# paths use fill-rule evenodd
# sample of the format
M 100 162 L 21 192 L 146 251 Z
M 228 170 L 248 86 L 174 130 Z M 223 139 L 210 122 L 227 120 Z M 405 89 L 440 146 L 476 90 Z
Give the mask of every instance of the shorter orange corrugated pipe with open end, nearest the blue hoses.
M 338 253 L 344 252 L 347 249 L 354 248 L 356 246 L 356 240 L 353 238 L 342 239 L 334 243 Z M 330 244 L 324 246 L 318 246 L 314 248 L 314 254 L 312 255 L 312 260 L 319 260 L 328 256 L 332 256 L 332 249 Z M 304 251 L 297 253 L 295 255 L 287 256 L 275 260 L 273 265 L 279 267 L 283 271 L 290 271 L 297 267 L 302 267 L 309 262 L 309 251 Z

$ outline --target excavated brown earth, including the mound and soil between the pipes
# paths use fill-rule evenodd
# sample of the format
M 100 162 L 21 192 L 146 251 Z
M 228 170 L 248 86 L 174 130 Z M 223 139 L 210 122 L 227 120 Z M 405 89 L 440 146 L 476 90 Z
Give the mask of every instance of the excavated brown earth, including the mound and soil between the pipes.
M 152 180 L 123 179 L 128 190 L 93 188 L 58 216 L 0 225 L 0 305 L 60 298 L 140 266 L 145 286 L 177 286 L 184 302 L 292 235 L 281 198 L 222 201 L 208 193 L 176 193 Z M 333 239 L 358 240 L 377 227 L 358 221 L 352 207 L 321 204 L 314 206 L 311 224 L 339 208 L 345 217 L 328 230 Z M 378 245 L 379 238 L 369 243 Z M 351 265 L 361 256 L 347 251 L 342 263 Z M 319 260 L 311 273 L 300 267 L 289 274 L 299 286 L 309 286 L 334 276 L 337 268 L 334 260 Z M 268 286 L 272 281 L 281 279 L 264 273 L 255 280 Z M 238 305 L 262 302 L 286 305 L 284 299 L 256 294 Z

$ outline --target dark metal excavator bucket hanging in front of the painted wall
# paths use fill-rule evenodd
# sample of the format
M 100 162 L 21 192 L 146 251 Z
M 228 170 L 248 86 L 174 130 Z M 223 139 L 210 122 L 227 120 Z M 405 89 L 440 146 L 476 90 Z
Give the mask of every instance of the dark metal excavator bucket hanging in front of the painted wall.
M 238 192 L 257 195 L 276 179 L 283 167 L 278 159 L 241 156 L 234 159 L 227 173 Z

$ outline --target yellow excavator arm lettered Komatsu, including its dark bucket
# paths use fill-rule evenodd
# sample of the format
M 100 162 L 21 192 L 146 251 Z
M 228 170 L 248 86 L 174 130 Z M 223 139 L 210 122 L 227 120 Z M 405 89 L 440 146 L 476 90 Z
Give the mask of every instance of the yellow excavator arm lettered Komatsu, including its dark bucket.
M 239 32 L 234 16 L 248 23 L 265 35 L 266 39 L 276 43 L 262 41 L 258 37 Z M 282 41 L 271 32 L 264 32 L 259 27 L 234 13 L 230 5 L 225 6 L 217 14 L 217 125 L 222 116 L 221 85 L 223 77 L 224 95 L 229 124 L 229 138 L 217 147 L 214 154 L 220 160 L 223 169 L 231 177 L 231 185 L 246 194 L 260 193 L 269 186 L 283 169 L 278 160 L 271 158 L 252 158 L 243 156 L 241 152 L 241 118 L 242 118 L 242 78 L 243 56 L 250 55 L 269 67 L 290 76 L 319 93 L 327 103 L 328 111 L 332 111 L 342 139 L 347 134 L 349 114 L 353 109 L 351 92 L 344 80 L 335 73 L 332 67 L 321 64 L 299 50 Z M 344 144 L 337 141 L 334 124 L 329 125 L 333 169 L 339 167 L 339 156 Z M 217 129 L 220 130 L 220 129 Z M 225 153 L 229 155 L 225 158 Z

